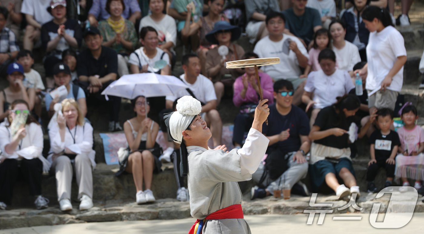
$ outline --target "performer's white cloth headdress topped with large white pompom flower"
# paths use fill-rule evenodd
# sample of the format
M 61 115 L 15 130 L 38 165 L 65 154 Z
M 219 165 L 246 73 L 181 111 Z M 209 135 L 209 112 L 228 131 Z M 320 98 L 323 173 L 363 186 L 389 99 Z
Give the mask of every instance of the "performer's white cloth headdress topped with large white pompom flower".
M 174 111 L 169 119 L 169 132 L 174 142 L 181 144 L 182 132 L 190 126 L 196 115 L 202 111 L 198 100 L 192 96 L 184 96 L 177 100 L 177 111 Z

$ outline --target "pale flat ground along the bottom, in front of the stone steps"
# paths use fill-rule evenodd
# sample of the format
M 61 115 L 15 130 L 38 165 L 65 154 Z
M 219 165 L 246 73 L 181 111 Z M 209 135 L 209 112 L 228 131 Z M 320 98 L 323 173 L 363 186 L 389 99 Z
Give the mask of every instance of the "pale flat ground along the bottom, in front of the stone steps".
M 361 220 L 333 220 L 337 214 L 326 215 L 324 223 L 317 225 L 318 215 L 312 225 L 307 225 L 307 215 L 246 215 L 253 234 L 267 233 L 361 233 L 361 234 L 391 234 L 391 233 L 423 233 L 423 213 L 416 213 L 406 226 L 397 229 L 374 228 L 369 221 L 369 214 L 347 214 L 349 217 L 362 217 Z M 0 234 L 107 234 L 107 233 L 137 233 L 137 234 L 186 234 L 194 223 L 193 218 L 180 220 L 145 220 L 120 221 L 106 223 L 79 223 L 57 226 L 38 226 L 29 228 L 14 228 L 0 230 Z

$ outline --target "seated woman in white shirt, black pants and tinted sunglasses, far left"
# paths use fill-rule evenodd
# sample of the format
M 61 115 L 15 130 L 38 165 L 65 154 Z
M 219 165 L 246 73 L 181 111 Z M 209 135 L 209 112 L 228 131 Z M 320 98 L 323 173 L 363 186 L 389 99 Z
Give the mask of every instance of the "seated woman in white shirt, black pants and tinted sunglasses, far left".
M 11 205 L 13 187 L 18 177 L 29 184 L 31 196 L 35 198 L 37 209 L 48 207 L 49 200 L 41 193 L 43 170 L 48 171 L 49 162 L 42 155 L 43 131 L 34 117 L 29 113 L 28 103 L 17 99 L 10 106 L 8 121 L 0 124 L 0 210 Z M 28 113 L 25 126 L 11 135 L 11 123 L 22 112 Z

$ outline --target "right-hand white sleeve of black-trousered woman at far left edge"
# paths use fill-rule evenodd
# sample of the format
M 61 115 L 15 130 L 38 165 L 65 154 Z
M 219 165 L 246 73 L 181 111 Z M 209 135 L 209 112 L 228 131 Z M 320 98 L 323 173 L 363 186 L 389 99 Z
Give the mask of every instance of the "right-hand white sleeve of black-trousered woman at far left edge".
M 34 159 L 38 158 L 42 155 L 43 146 L 44 146 L 44 138 L 43 131 L 41 126 L 36 123 L 31 123 L 27 126 L 27 133 L 30 137 L 31 145 L 20 150 L 17 150 L 16 153 L 19 156 L 24 157 L 25 159 Z

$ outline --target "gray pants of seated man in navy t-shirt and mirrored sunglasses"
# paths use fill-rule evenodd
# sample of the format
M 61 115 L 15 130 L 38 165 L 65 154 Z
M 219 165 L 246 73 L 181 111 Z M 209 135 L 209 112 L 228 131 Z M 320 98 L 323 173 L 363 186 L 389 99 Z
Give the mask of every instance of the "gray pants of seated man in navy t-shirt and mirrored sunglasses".
M 266 187 L 268 192 L 273 194 L 274 187 L 278 186 L 278 183 L 281 179 L 281 184 L 290 184 L 290 187 L 293 187 L 294 184 L 296 184 L 298 181 L 300 181 L 303 178 L 306 178 L 306 175 L 308 173 L 308 163 L 297 163 L 296 161 L 293 162 L 293 157 L 295 153 L 293 153 L 289 161 L 287 162 L 287 166 L 289 167 L 282 175 L 280 175 L 279 178 L 276 180 L 271 180 L 269 178 L 269 175 L 267 174 L 265 179 L 262 181 L 261 186 Z M 284 157 L 282 155 L 282 157 Z M 258 170 L 256 170 L 255 173 L 252 174 L 252 178 L 256 183 L 259 183 L 262 174 L 265 171 L 265 165 L 259 164 Z

